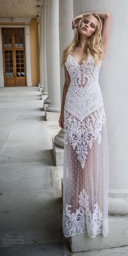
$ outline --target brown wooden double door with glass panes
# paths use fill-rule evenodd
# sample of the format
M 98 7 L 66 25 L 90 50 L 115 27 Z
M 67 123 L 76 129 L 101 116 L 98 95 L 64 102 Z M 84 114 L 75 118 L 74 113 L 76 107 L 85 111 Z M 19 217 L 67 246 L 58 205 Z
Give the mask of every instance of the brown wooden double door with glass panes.
M 2 28 L 4 86 L 26 86 L 23 28 Z

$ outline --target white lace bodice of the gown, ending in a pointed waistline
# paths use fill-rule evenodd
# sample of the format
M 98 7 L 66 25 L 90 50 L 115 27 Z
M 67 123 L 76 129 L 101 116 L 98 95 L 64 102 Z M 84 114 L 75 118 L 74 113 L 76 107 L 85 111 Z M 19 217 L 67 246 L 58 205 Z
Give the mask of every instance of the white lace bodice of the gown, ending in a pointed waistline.
M 71 78 L 65 99 L 65 110 L 82 121 L 94 110 L 103 106 L 103 97 L 99 86 L 99 71 L 91 55 L 79 65 L 72 54 L 69 54 L 65 66 Z

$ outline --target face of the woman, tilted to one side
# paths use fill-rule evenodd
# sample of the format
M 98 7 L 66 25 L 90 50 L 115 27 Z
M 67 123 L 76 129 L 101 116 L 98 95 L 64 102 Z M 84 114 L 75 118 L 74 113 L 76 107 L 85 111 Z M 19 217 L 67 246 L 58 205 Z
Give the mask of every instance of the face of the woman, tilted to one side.
M 98 25 L 98 20 L 94 16 L 88 16 L 80 24 L 79 32 L 82 35 L 86 35 L 88 38 L 95 33 L 95 29 Z

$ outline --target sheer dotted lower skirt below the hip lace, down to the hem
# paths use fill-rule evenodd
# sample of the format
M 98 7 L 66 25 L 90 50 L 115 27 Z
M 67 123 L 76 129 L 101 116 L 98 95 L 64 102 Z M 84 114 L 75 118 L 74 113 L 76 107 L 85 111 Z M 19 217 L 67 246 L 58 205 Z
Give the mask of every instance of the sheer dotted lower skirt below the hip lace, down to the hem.
M 87 231 L 92 238 L 108 233 L 108 148 L 106 125 L 101 142 L 88 147 L 84 168 L 68 140 L 64 147 L 63 232 L 72 236 Z

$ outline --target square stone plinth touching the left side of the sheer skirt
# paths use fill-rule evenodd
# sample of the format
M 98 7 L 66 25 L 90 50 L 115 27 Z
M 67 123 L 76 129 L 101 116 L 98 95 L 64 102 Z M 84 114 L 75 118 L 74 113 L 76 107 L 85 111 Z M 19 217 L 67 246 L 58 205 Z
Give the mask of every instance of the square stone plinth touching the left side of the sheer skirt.
M 61 146 L 57 145 L 55 143 L 54 137 L 53 137 L 53 152 L 55 157 L 55 165 L 63 165 L 63 148 Z

